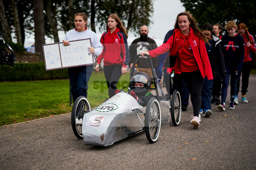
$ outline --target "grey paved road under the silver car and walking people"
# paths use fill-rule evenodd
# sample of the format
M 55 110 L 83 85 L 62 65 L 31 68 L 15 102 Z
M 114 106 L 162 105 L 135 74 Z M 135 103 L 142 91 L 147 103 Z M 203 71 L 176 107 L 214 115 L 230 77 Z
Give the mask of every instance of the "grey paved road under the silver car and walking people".
M 198 129 L 189 123 L 190 103 L 180 124 L 162 127 L 154 144 L 142 132 L 108 147 L 86 146 L 73 135 L 70 113 L 2 127 L 0 169 L 255 169 L 255 85 L 251 75 L 249 103 L 224 112 L 212 105 Z

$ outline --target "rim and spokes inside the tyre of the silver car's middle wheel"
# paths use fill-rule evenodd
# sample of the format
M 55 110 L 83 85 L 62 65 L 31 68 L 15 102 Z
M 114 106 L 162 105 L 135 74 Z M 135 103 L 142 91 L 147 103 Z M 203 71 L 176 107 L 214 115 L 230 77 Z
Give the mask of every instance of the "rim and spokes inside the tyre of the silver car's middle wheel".
M 153 140 L 157 138 L 157 134 L 159 131 L 159 123 L 160 123 L 159 108 L 157 104 L 154 102 L 151 105 L 150 113 L 149 113 L 149 133 Z

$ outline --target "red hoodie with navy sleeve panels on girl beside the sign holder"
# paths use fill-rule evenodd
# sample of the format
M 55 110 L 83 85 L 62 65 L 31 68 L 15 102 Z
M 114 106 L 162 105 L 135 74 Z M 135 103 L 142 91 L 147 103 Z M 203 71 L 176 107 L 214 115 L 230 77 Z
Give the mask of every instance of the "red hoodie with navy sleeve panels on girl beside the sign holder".
M 121 65 L 126 68 L 129 62 L 129 49 L 125 34 L 117 27 L 114 32 L 104 32 L 100 38 L 103 45 L 102 53 L 98 56 L 97 64 L 104 58 L 104 65 Z

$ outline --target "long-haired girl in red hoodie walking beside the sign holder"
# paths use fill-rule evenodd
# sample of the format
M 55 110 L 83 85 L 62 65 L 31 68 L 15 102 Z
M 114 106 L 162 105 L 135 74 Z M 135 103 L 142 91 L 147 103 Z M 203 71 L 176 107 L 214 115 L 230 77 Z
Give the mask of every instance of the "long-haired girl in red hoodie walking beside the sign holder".
M 101 55 L 96 59 L 95 69 L 99 70 L 99 65 L 104 58 L 104 74 L 109 88 L 109 98 L 114 96 L 116 84 L 121 75 L 126 73 L 126 65 L 129 62 L 129 49 L 127 45 L 127 32 L 117 14 L 108 17 L 107 32 L 100 38 L 103 45 Z

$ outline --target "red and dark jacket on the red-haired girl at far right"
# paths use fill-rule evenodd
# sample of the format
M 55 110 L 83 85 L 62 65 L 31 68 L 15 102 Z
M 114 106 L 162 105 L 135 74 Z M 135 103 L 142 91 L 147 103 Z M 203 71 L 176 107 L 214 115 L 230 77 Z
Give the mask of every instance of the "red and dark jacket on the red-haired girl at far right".
M 249 34 L 249 32 L 248 32 Z M 248 47 L 246 45 L 247 42 L 249 42 L 249 40 L 246 37 L 246 34 L 243 34 L 243 40 L 244 40 L 244 59 L 243 62 L 246 61 L 252 61 L 252 53 L 256 53 L 256 45 L 255 45 L 255 40 L 253 38 L 253 36 L 251 34 L 249 34 L 250 37 L 250 41 L 252 41 L 253 43 L 251 44 L 251 47 Z

